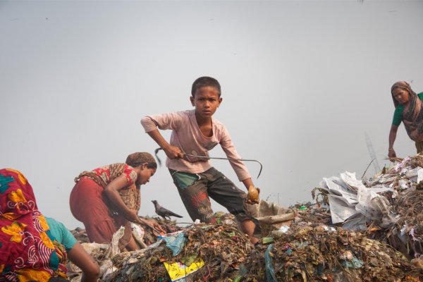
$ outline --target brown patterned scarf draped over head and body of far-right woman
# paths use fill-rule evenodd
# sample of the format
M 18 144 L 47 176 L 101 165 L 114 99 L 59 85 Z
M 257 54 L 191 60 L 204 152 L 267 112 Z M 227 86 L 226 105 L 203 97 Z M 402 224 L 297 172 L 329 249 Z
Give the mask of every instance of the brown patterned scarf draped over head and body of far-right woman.
M 417 94 L 411 90 L 410 85 L 405 81 L 398 81 L 391 87 L 391 94 L 395 88 L 401 88 L 410 94 L 410 100 L 403 109 L 403 123 L 407 135 L 411 140 L 419 142 L 423 138 L 423 102 L 419 99 Z M 398 105 L 398 102 L 393 97 L 394 106 Z

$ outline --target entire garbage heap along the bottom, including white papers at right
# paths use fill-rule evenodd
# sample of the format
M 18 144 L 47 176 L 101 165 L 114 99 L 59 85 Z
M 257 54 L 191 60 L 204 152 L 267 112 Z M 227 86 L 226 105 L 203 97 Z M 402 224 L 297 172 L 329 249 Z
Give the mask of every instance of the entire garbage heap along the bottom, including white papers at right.
M 156 219 L 167 234 L 145 228 L 142 250 L 111 255 L 103 245 L 90 252 L 102 282 L 422 281 L 422 167 L 422 156 L 398 159 L 369 179 L 324 178 L 312 190 L 314 203 L 285 209 L 260 202 L 258 245 L 233 215 L 219 212 L 216 224 Z

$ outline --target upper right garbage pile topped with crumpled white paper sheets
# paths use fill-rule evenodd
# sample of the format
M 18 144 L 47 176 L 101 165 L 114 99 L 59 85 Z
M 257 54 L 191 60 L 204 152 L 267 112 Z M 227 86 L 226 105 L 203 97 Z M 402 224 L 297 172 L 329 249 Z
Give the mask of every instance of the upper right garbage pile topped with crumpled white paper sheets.
M 323 178 L 313 196 L 330 207 L 333 224 L 364 231 L 418 259 L 423 242 L 423 155 L 391 161 L 391 168 L 369 179 L 357 180 L 348 172 Z

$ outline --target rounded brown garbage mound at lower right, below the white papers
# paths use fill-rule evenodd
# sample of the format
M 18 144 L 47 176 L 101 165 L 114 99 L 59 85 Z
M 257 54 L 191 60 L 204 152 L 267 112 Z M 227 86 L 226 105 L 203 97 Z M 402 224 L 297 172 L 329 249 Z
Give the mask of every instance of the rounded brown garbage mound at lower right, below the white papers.
M 266 259 L 267 257 L 267 259 Z M 243 281 L 419 281 L 400 252 L 362 233 L 300 221 L 255 249 Z

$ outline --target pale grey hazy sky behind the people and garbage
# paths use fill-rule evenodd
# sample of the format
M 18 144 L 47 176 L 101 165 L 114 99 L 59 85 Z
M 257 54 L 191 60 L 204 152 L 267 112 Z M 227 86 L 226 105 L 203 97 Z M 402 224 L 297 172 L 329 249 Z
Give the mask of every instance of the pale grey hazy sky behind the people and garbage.
M 423 92 L 422 27 L 423 1 L 0 1 L 0 167 L 27 176 L 45 215 L 82 226 L 73 178 L 153 153 L 140 118 L 192 109 L 192 82 L 209 75 L 215 118 L 264 166 L 256 179 L 246 163 L 261 197 L 306 202 L 323 177 L 362 176 L 366 133 L 389 165 L 390 89 Z M 415 154 L 403 125 L 395 148 Z M 243 188 L 228 161 L 213 164 Z M 151 200 L 190 222 L 165 167 L 142 186 L 140 215 Z

